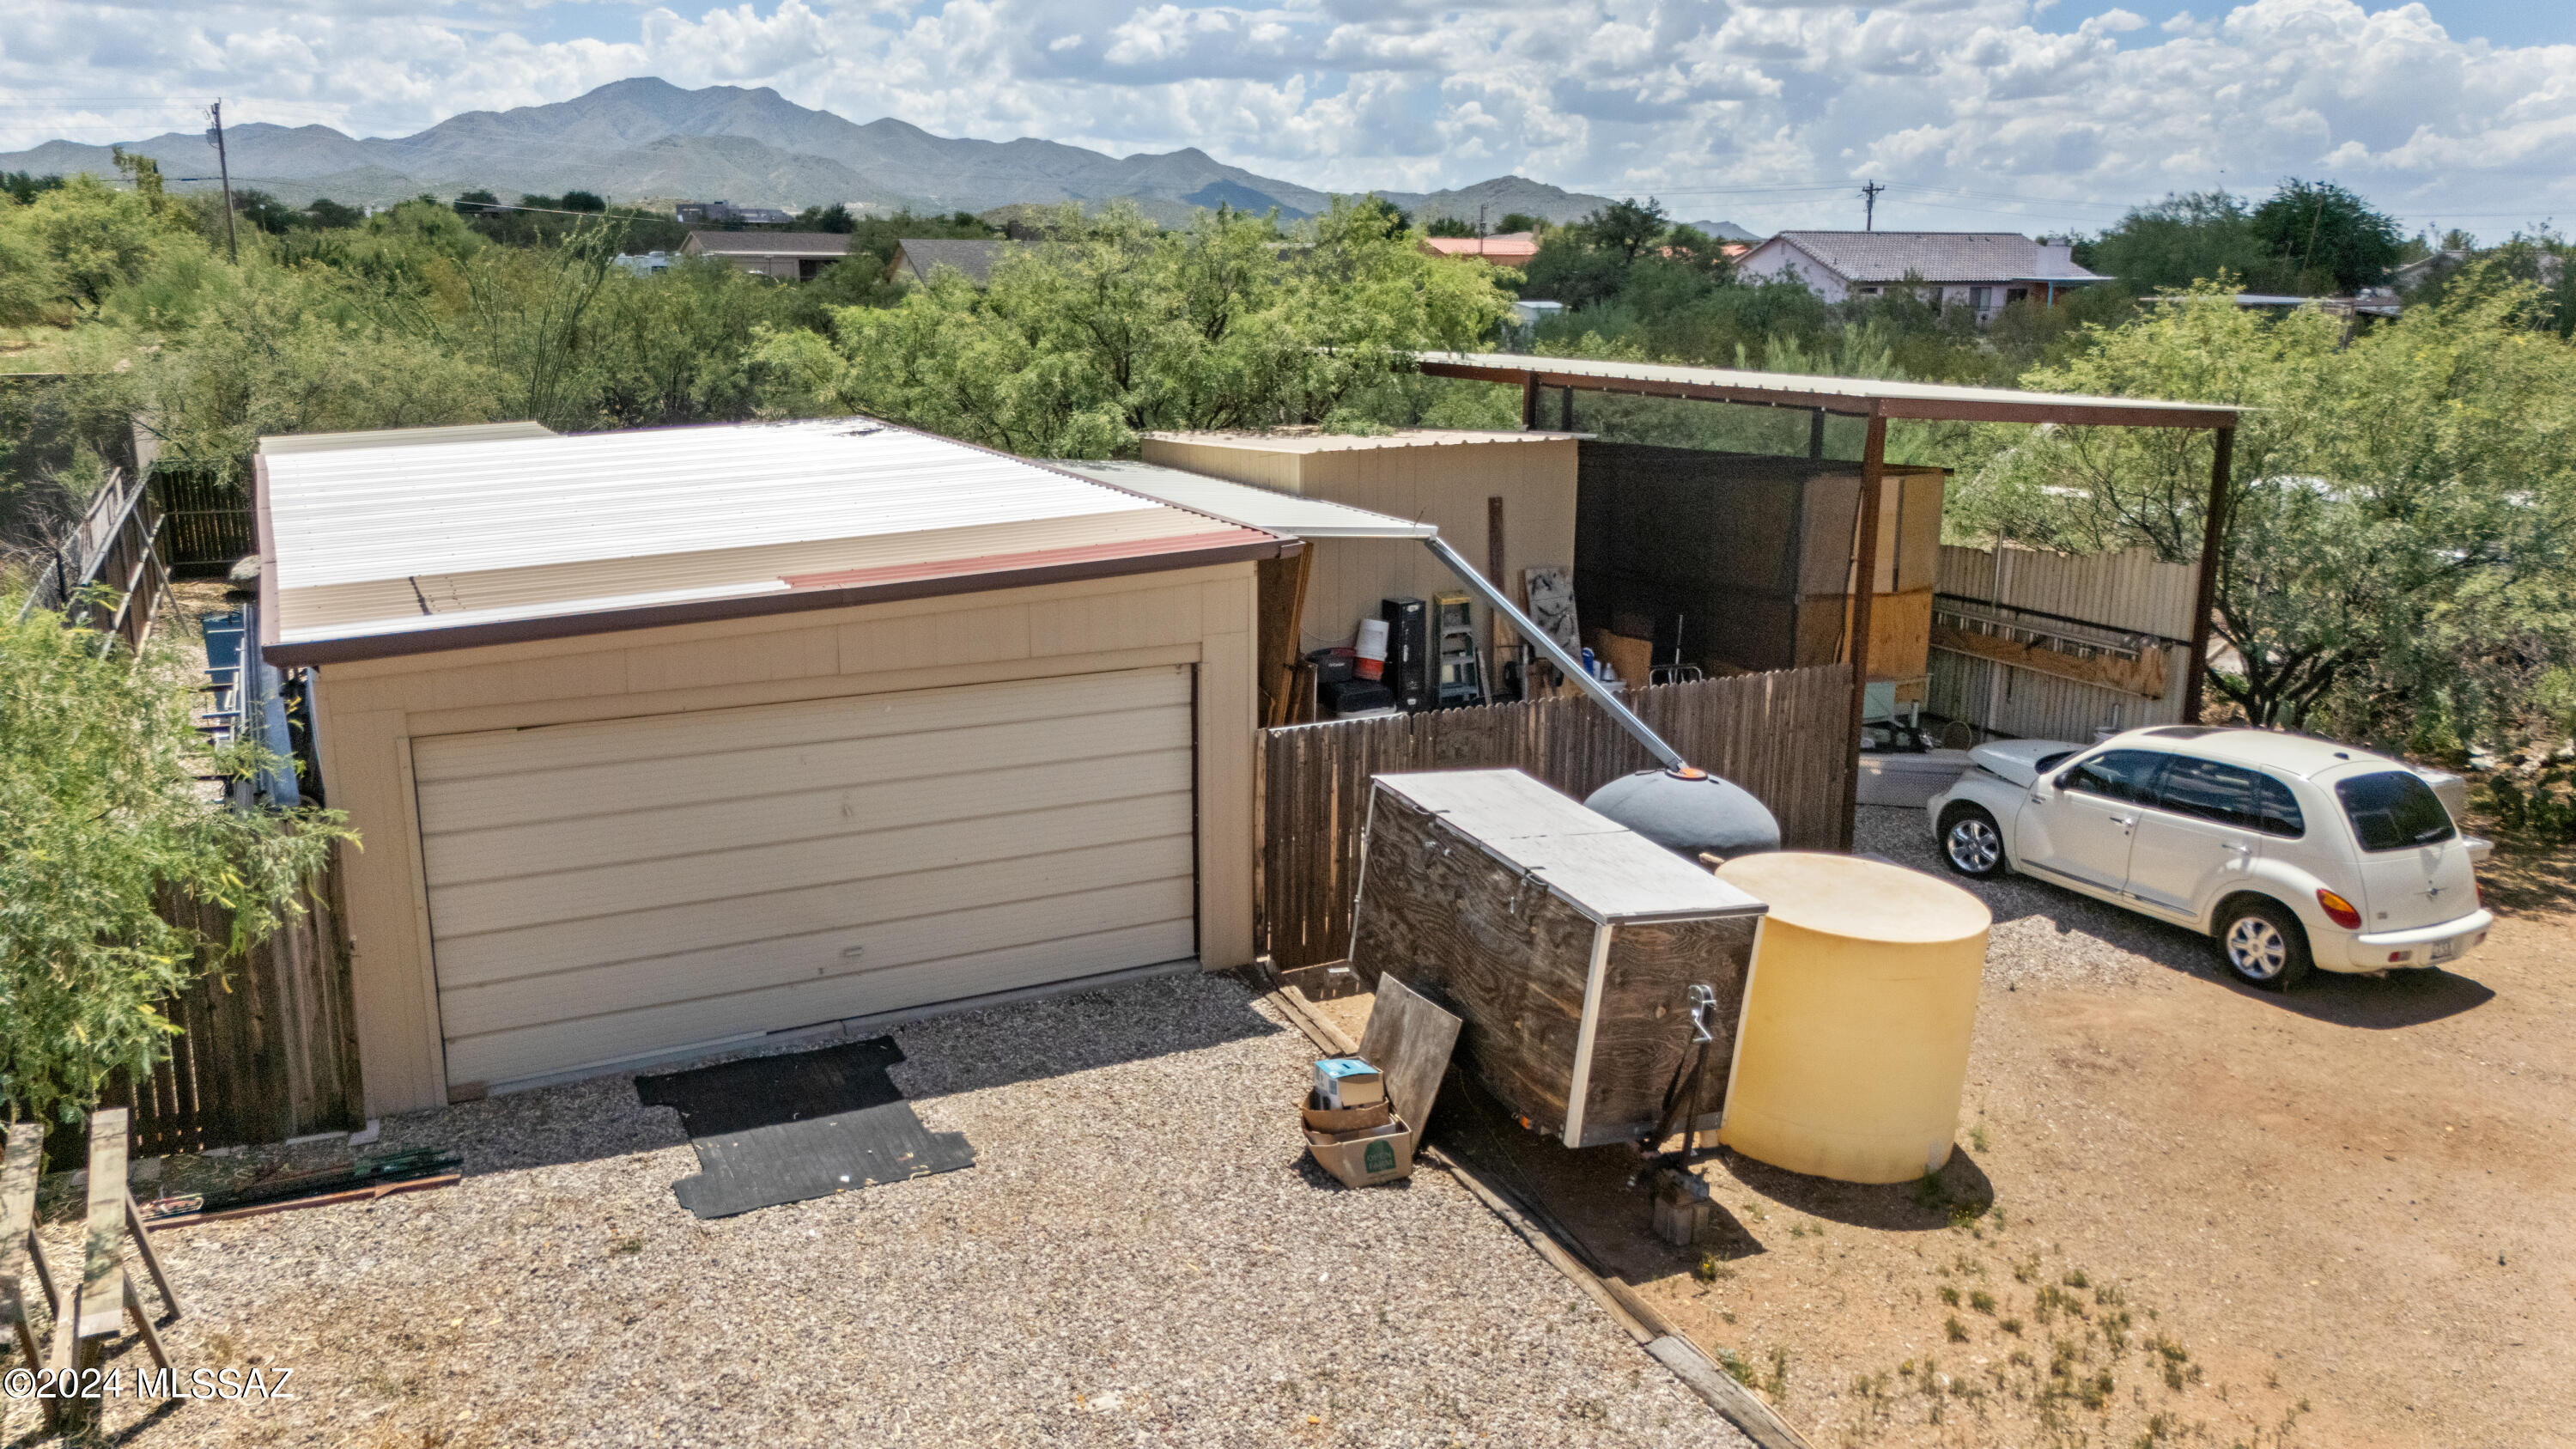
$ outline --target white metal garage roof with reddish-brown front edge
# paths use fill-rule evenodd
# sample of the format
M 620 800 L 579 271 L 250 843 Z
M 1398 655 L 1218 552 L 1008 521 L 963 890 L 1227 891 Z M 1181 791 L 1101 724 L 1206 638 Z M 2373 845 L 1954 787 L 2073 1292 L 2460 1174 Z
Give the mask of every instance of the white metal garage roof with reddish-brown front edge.
M 260 443 L 260 627 L 286 665 L 1298 547 L 868 418 L 335 443 Z

